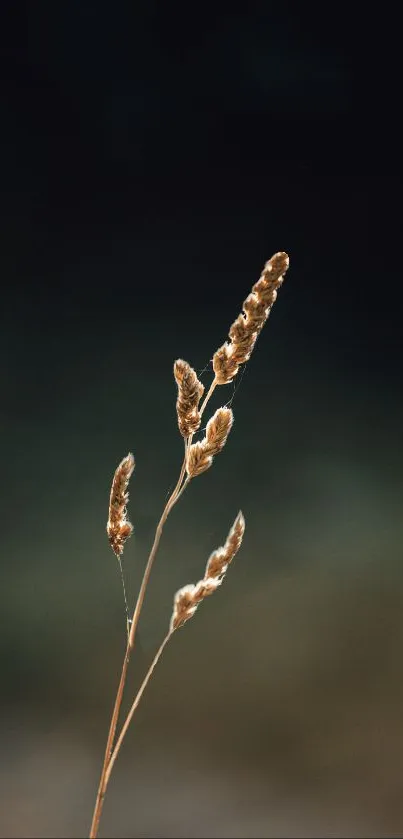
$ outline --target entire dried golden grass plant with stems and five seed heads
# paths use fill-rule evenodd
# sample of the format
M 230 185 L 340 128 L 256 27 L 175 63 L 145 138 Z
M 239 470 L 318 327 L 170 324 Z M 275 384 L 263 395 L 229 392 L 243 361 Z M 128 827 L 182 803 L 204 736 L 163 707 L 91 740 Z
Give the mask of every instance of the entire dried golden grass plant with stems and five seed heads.
M 180 498 L 184 488 L 189 483 L 189 480 L 209 469 L 213 463 L 215 455 L 225 446 L 228 434 L 233 424 L 232 411 L 229 408 L 219 408 L 207 423 L 206 433 L 203 440 L 192 445 L 193 434 L 200 427 L 201 416 L 206 404 L 215 390 L 216 385 L 226 384 L 232 381 L 239 370 L 239 366 L 249 359 L 257 337 L 276 300 L 277 290 L 283 282 L 284 274 L 288 268 L 288 263 L 289 260 L 287 254 L 282 252 L 272 256 L 272 258 L 266 263 L 260 279 L 257 283 L 255 283 L 251 293 L 243 303 L 242 313 L 234 321 L 229 330 L 229 340 L 217 350 L 213 357 L 215 378 L 211 383 L 200 407 L 199 403 L 204 393 L 204 387 L 201 382 L 199 382 L 195 371 L 192 370 L 190 365 L 182 359 L 178 359 L 174 364 L 174 376 L 178 386 L 178 397 L 176 403 L 178 425 L 180 433 L 185 438 L 185 456 L 177 484 L 173 489 L 162 512 L 160 521 L 158 522 L 154 542 L 140 585 L 136 606 L 133 612 L 133 618 L 130 623 L 128 621 L 128 643 L 123 660 L 122 674 L 116 694 L 111 723 L 109 726 L 104 763 L 91 825 L 91 839 L 95 839 L 98 834 L 99 821 L 101 818 L 107 785 L 122 742 L 127 733 L 133 714 L 138 707 L 144 690 L 154 672 L 154 668 L 159 661 L 166 644 L 168 643 L 172 633 L 180 626 L 183 626 L 183 624 L 194 615 L 202 600 L 210 594 L 213 594 L 218 586 L 221 585 L 227 568 L 242 543 L 245 530 L 245 520 L 242 513 L 239 512 L 228 534 L 225 545 L 218 548 L 210 555 L 203 579 L 199 580 L 196 585 L 184 586 L 184 588 L 180 589 L 176 593 L 168 634 L 154 656 L 142 685 L 132 703 L 130 711 L 127 714 L 125 722 L 122 725 L 120 734 L 115 742 L 130 654 L 134 647 L 135 635 L 151 568 L 158 550 L 165 521 L 172 508 Z M 125 541 L 131 535 L 133 530 L 132 525 L 126 518 L 126 504 L 128 501 L 127 488 L 133 469 L 134 458 L 132 454 L 128 454 L 127 457 L 125 457 L 119 464 L 115 472 L 110 495 L 107 532 L 110 545 L 118 557 L 120 565 Z M 187 473 L 186 478 L 185 472 Z M 126 595 L 125 603 L 127 612 Z

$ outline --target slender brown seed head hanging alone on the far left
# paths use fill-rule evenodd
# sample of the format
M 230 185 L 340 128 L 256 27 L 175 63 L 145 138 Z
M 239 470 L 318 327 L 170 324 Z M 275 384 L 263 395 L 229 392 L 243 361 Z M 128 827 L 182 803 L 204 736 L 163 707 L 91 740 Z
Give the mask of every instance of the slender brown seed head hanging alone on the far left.
M 121 557 L 126 540 L 133 533 L 133 525 L 126 518 L 127 491 L 134 470 L 134 457 L 129 452 L 119 463 L 113 477 L 109 500 L 109 517 L 106 525 L 109 544 L 117 557 Z

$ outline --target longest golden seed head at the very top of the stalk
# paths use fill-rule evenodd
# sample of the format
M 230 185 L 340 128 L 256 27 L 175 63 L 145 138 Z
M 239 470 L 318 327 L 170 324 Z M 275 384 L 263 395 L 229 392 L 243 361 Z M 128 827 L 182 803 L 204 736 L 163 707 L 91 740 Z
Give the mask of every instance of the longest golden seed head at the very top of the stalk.
M 277 298 L 289 265 L 286 253 L 279 252 L 266 262 L 260 279 L 243 303 L 243 311 L 229 330 L 229 341 L 213 356 L 216 383 L 228 384 L 236 376 L 239 366 L 248 361 Z

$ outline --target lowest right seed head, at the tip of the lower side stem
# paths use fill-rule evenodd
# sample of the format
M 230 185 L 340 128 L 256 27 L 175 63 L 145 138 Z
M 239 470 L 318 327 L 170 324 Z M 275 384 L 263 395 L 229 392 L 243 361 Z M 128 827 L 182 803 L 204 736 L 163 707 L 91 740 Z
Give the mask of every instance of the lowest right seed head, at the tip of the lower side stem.
M 171 633 L 193 617 L 202 600 L 213 594 L 221 585 L 230 562 L 241 547 L 244 532 L 245 519 L 239 512 L 227 536 L 225 545 L 211 554 L 203 579 L 199 580 L 196 585 L 184 586 L 176 592 L 169 627 Z

